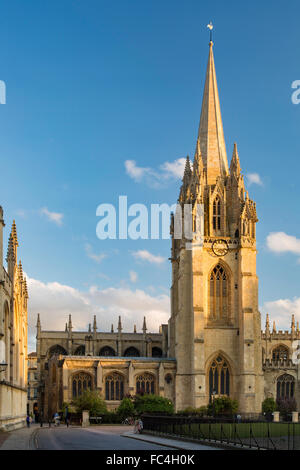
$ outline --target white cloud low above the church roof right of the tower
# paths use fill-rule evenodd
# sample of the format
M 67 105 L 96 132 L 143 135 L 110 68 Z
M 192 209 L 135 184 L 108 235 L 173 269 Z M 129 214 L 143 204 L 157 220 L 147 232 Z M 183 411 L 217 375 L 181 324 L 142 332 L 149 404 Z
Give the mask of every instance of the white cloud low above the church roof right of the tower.
M 294 297 L 292 300 L 278 299 L 265 302 L 262 312 L 264 316 L 269 314 L 271 329 L 275 320 L 277 330 L 288 330 L 291 326 L 292 314 L 295 315 L 295 320 L 300 322 L 300 297 Z M 265 329 L 265 324 L 262 326 Z

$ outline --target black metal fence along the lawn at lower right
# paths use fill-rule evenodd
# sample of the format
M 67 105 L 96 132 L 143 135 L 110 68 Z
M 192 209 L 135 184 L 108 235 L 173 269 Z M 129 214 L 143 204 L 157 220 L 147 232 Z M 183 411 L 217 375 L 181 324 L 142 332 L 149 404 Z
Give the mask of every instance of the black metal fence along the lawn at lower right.
M 300 423 L 203 418 L 196 416 L 143 416 L 151 434 L 227 444 L 236 448 L 300 449 Z

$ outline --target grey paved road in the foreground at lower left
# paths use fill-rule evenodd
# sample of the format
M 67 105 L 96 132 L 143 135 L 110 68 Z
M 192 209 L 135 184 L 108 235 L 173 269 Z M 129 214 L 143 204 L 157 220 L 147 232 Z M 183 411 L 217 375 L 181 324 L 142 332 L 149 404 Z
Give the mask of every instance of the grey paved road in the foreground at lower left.
M 122 437 L 130 430 L 131 426 L 43 428 L 37 431 L 35 444 L 40 450 L 173 450 Z

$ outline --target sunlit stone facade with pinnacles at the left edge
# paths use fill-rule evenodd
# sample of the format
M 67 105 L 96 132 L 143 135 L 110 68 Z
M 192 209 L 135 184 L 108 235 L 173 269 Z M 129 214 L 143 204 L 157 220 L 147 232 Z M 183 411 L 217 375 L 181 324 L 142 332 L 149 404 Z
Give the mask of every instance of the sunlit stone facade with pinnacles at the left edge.
M 27 283 L 17 263 L 17 230 L 12 225 L 3 266 L 3 210 L 0 208 L 0 428 L 25 425 L 27 402 Z

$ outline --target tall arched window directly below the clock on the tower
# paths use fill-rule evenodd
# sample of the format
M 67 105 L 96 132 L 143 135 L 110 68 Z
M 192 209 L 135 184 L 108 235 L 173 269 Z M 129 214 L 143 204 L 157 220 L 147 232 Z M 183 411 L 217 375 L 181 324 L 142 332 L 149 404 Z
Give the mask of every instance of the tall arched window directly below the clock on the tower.
M 225 268 L 218 264 L 211 272 L 209 280 L 210 318 L 224 320 L 229 314 L 229 276 Z

